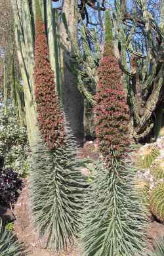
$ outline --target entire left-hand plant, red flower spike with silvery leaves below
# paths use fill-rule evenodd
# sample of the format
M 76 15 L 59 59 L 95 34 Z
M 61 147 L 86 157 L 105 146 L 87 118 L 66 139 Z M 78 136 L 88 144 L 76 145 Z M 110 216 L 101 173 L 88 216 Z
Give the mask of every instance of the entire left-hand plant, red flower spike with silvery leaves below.
M 47 247 L 63 251 L 77 238 L 87 179 L 83 164 L 75 159 L 77 148 L 60 109 L 49 62 L 45 26 L 36 4 L 35 101 L 37 142 L 31 146 L 30 199 L 33 226 L 47 238 Z

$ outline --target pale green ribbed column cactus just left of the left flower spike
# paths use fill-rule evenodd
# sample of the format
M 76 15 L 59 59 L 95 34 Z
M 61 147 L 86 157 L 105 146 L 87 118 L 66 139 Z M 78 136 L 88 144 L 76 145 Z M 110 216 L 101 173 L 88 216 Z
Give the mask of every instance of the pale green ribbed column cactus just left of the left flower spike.
M 15 0 L 11 3 L 14 16 L 14 32 L 20 72 L 22 74 L 26 125 L 30 144 L 37 142 L 37 116 L 33 101 L 33 22 L 28 1 Z M 27 50 L 27 51 L 26 51 Z

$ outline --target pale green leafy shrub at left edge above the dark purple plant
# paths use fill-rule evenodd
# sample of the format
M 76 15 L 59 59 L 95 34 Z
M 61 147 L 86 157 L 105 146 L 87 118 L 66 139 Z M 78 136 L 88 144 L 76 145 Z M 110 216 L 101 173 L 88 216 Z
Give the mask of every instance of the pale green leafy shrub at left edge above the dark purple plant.
M 0 110 L 0 155 L 5 160 L 5 167 L 12 168 L 21 177 L 28 173 L 27 158 L 30 150 L 27 142 L 26 128 L 20 127 L 16 111 L 12 104 L 8 106 L 7 115 Z

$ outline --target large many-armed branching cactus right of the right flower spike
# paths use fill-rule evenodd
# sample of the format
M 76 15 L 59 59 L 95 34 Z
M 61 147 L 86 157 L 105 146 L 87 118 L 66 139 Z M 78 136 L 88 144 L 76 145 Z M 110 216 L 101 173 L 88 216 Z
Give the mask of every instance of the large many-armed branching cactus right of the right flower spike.
M 125 73 L 131 112 L 133 114 L 133 136 L 140 140 L 148 137 L 154 128 L 154 123 L 160 123 L 160 115 L 157 115 L 157 106 L 163 100 L 163 8 L 161 10 L 161 24 L 157 24 L 152 14 L 147 10 L 146 0 L 135 0 L 136 7 L 140 9 L 142 16 L 136 15 L 136 9 L 123 11 L 121 1 L 115 1 L 113 22 L 115 37 L 120 51 L 119 64 Z M 131 20 L 131 30 L 126 27 L 126 20 Z M 142 24 L 146 47 L 134 43 L 136 28 Z M 157 40 L 155 41 L 155 36 Z M 143 40 L 144 40 L 143 39 Z M 142 40 L 141 40 L 142 41 Z M 127 54 L 131 56 L 131 67 L 127 63 Z M 154 113 L 156 118 L 154 120 Z M 155 125 L 155 133 L 156 133 Z M 157 135 L 154 135 L 157 137 Z M 155 138 L 156 139 L 156 138 Z

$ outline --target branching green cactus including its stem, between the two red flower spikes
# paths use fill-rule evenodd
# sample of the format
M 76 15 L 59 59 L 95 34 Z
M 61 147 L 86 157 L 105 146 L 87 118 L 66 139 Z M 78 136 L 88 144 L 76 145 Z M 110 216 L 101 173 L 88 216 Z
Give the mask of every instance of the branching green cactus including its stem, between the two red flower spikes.
M 79 51 L 79 47 L 73 44 L 73 39 L 70 38 L 73 46 L 70 69 L 77 74 L 78 89 L 84 96 L 85 135 L 92 136 L 94 134 L 93 107 L 96 104 L 94 94 L 96 93 L 96 84 L 98 83 L 96 68 L 101 56 L 100 45 L 96 36 L 96 30 L 90 31 L 83 24 L 82 20 L 79 34 L 81 37 L 81 51 Z M 94 51 L 91 50 L 89 41 L 94 45 Z

